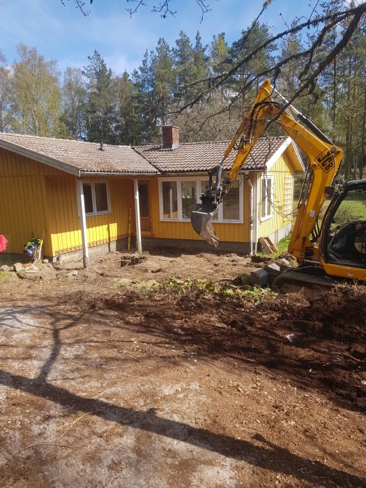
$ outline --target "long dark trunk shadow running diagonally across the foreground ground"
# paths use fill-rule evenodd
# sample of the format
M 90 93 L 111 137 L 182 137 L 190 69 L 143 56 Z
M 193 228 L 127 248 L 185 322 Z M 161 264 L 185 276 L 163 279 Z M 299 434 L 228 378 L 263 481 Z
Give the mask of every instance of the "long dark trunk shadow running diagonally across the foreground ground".
M 128 425 L 133 429 L 141 429 L 189 443 L 252 466 L 291 475 L 298 480 L 317 486 L 320 482 L 323 486 L 334 484 L 337 486 L 366 487 L 365 478 L 359 478 L 345 471 L 330 468 L 321 462 L 294 455 L 289 450 L 270 443 L 263 436 L 256 435 L 253 437 L 253 441 L 259 443 L 257 445 L 254 442 L 234 439 L 207 429 L 192 427 L 183 422 L 158 417 L 154 409 L 138 411 L 109 404 L 100 399 L 79 397 L 64 388 L 53 386 L 47 382 L 40 383 L 38 379 L 28 379 L 17 374 L 10 374 L 3 369 L 0 369 L 0 384 L 26 392 L 29 395 L 42 397 L 68 409 L 92 413 L 109 422 Z

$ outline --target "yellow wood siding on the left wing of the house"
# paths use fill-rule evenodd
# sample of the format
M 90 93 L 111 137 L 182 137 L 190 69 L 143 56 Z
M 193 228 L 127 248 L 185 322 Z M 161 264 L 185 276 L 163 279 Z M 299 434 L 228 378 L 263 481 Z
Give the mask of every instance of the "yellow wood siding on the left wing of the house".
M 82 248 L 76 179 L 0 149 L 0 234 L 8 236 L 9 252 L 22 253 L 29 238 L 42 236 L 47 256 Z M 130 206 L 132 232 L 135 229 L 132 179 L 109 176 L 99 181 L 109 183 L 111 213 L 86 217 L 90 247 L 127 236 Z

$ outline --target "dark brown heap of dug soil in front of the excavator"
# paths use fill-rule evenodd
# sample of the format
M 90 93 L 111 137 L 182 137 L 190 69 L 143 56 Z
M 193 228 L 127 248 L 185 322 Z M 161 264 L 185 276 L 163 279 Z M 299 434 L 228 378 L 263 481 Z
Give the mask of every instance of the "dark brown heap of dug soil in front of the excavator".
M 348 408 L 366 409 L 366 292 L 358 287 L 337 287 L 312 300 L 293 293 L 261 305 L 129 292 L 90 306 L 117 311 L 121 319 L 138 314 L 139 326 L 195 353 L 255 361 Z

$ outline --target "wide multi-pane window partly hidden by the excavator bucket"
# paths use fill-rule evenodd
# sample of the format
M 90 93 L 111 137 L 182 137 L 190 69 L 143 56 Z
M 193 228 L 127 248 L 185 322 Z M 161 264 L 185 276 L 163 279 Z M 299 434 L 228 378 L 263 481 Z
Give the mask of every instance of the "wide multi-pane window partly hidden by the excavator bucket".
M 199 197 L 207 188 L 208 179 L 205 177 L 161 178 L 160 219 L 190 220 L 195 206 L 201 202 Z M 231 188 L 214 217 L 216 222 L 243 222 L 242 192 L 242 185 Z

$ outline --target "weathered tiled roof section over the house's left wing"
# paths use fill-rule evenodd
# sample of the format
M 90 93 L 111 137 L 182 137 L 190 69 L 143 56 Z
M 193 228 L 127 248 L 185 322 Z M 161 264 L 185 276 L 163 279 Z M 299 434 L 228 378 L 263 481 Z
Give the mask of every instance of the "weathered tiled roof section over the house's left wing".
M 52 139 L 30 135 L 4 134 L 0 132 L 1 141 L 10 142 L 18 149 L 38 153 L 59 161 L 66 167 L 80 171 L 113 172 L 113 173 L 151 173 L 159 171 L 146 161 L 130 146 L 111 146 L 104 144 L 104 151 L 100 151 L 100 144 L 95 142 L 71 141 L 68 139 Z M 17 148 L 13 150 L 16 152 Z M 23 151 L 24 153 L 24 151 Z M 36 157 L 33 155 L 33 158 Z M 47 164 L 47 160 L 45 161 Z

